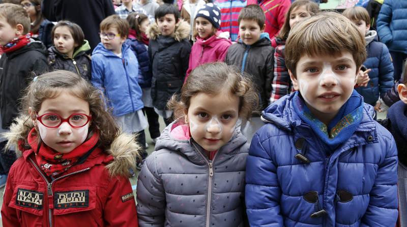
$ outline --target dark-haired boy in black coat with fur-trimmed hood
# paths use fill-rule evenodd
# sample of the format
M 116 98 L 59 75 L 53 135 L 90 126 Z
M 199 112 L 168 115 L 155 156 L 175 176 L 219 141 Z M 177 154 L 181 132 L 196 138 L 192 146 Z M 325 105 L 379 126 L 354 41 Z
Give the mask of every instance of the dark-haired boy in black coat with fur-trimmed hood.
M 156 10 L 155 20 L 147 29 L 153 72 L 151 98 L 155 111 L 168 125 L 173 119 L 167 102 L 174 93 L 181 91 L 188 70 L 190 28 L 186 21 L 180 20 L 180 11 L 171 4 L 161 5 Z

